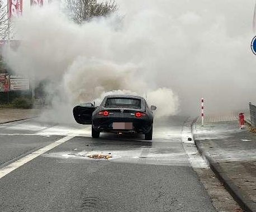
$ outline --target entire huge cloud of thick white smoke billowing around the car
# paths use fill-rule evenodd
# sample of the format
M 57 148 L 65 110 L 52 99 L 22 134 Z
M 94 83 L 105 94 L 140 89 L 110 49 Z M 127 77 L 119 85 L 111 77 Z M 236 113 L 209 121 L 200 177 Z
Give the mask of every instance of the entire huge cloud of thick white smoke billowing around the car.
M 208 111 L 253 101 L 253 2 L 117 3 L 121 21 L 112 16 L 82 25 L 56 4 L 31 9 L 16 20 L 22 43 L 7 54 L 10 66 L 37 80 L 51 78 L 62 91 L 56 100 L 70 107 L 108 92 L 147 93 L 159 116 L 196 112 L 201 97 Z

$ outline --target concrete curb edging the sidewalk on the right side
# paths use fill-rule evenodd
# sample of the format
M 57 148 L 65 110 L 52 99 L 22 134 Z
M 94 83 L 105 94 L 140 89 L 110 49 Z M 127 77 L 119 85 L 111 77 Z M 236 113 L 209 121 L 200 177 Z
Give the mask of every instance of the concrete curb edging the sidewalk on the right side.
M 192 127 L 193 129 L 193 127 Z M 208 164 L 210 165 L 212 171 L 214 171 L 217 178 L 221 181 L 221 183 L 225 186 L 226 190 L 229 191 L 231 196 L 237 201 L 237 203 L 241 206 L 241 208 L 247 212 L 255 212 L 256 211 L 256 203 L 254 203 L 248 195 L 246 195 L 243 191 L 241 191 L 238 186 L 236 186 L 233 181 L 225 174 L 225 172 L 221 169 L 219 163 L 212 159 L 210 154 L 203 148 L 202 142 L 200 140 L 195 139 L 195 134 L 192 131 L 193 139 L 195 141 L 195 145 L 204 157 Z

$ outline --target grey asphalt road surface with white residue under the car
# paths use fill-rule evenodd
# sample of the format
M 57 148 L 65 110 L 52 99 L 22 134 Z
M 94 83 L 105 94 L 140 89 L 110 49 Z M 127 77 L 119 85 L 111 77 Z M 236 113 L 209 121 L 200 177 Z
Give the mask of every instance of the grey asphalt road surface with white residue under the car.
M 92 139 L 90 127 L 76 124 L 0 125 L 0 170 L 74 136 L 0 179 L 0 211 L 215 211 L 183 150 L 185 120 L 155 123 L 152 142 L 136 135 Z M 112 159 L 86 157 L 101 152 Z

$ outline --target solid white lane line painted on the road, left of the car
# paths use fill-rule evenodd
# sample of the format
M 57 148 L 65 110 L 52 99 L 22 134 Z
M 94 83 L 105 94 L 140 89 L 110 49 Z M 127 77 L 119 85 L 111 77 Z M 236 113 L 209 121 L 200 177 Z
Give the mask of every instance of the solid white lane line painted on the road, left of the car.
M 65 136 L 62 139 L 59 139 L 45 147 L 42 147 L 41 149 L 32 152 L 29 155 L 26 155 L 25 157 L 22 157 L 19 160 L 16 160 L 15 162 L 12 162 L 11 164 L 4 166 L 2 169 L 0 169 L 0 179 L 3 178 L 3 176 L 6 176 L 7 174 L 9 174 L 10 172 L 12 172 L 15 169 L 18 169 L 18 167 L 26 164 L 27 162 L 35 159 L 36 157 L 44 154 L 45 152 L 53 149 L 56 146 L 59 146 L 60 144 L 63 144 L 64 142 L 72 139 L 73 137 L 75 137 L 74 135 L 69 135 L 69 136 Z

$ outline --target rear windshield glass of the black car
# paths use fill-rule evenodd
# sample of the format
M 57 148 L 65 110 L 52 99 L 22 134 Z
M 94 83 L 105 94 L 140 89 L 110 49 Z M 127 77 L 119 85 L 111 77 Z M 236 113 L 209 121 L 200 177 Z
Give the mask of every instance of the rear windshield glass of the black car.
M 127 107 L 140 109 L 140 100 L 136 98 L 107 98 L 105 107 Z

